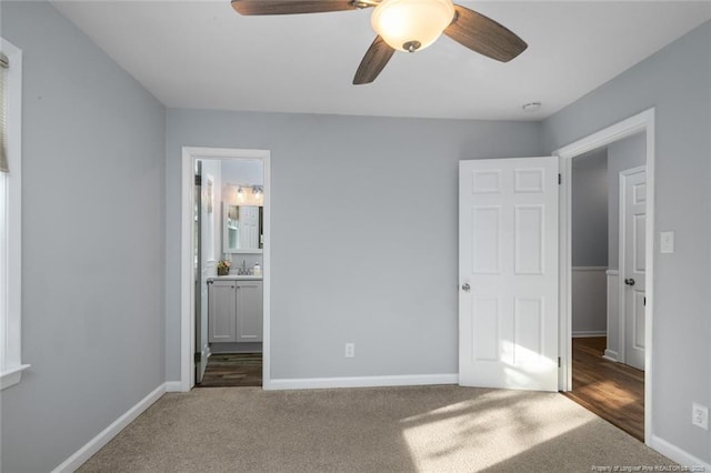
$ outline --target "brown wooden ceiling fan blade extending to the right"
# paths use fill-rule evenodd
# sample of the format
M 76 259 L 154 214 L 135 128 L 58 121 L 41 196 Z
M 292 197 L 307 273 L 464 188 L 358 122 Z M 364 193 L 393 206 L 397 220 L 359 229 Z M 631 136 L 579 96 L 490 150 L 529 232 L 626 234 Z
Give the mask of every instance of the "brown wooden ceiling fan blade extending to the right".
M 529 46 L 492 19 L 455 4 L 454 21 L 444 29 L 444 34 L 454 41 L 501 62 L 509 62 Z

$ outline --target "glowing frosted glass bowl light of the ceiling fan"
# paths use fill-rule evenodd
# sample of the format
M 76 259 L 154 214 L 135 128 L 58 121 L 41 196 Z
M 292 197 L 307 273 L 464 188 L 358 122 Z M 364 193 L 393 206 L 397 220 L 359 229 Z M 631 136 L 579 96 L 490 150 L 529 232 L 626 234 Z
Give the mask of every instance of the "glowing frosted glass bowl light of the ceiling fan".
M 452 0 L 383 0 L 371 24 L 392 49 L 414 52 L 437 41 L 453 19 Z

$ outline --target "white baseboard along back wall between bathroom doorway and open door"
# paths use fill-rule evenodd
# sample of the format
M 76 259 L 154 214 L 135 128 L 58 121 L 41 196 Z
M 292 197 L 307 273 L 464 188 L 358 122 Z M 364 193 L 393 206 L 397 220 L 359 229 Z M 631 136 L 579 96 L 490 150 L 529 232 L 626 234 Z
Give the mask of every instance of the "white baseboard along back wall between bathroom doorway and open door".
M 319 390 L 330 388 L 383 388 L 383 386 L 419 386 L 431 384 L 458 384 L 459 374 L 411 374 L 393 376 L 353 376 L 353 378 L 304 378 L 298 380 L 269 380 L 263 389 L 280 390 Z

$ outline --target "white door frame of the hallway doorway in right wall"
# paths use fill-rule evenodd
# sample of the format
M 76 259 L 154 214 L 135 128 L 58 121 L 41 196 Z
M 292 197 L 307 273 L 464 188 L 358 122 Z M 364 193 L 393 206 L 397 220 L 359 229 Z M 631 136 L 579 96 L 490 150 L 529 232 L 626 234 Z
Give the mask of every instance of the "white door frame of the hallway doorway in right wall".
M 647 308 L 644 343 L 644 443 L 652 435 L 652 366 L 653 366 L 653 306 L 654 306 L 654 109 L 598 131 L 555 151 L 560 158 L 562 185 L 560 189 L 560 355 L 561 391 L 572 389 L 572 291 L 571 291 L 571 175 L 572 159 L 605 147 L 632 134 L 645 132 L 647 139 Z

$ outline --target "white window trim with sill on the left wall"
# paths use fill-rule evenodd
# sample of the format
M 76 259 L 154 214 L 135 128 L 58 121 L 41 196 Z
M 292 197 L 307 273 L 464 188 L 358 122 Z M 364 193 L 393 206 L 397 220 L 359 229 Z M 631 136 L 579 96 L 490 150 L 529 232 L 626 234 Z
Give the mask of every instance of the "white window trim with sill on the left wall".
M 8 57 L 7 70 L 7 155 L 10 172 L 3 174 L 0 191 L 6 205 L 0 209 L 3 232 L 0 241 L 0 390 L 18 384 L 22 372 L 22 51 L 0 38 L 0 49 Z M 7 239 L 6 239 L 7 236 Z

